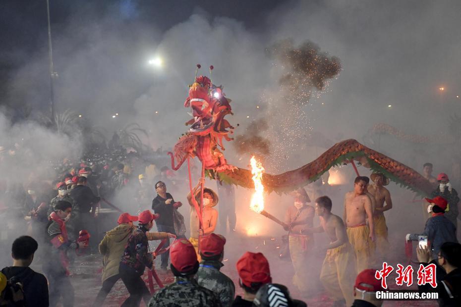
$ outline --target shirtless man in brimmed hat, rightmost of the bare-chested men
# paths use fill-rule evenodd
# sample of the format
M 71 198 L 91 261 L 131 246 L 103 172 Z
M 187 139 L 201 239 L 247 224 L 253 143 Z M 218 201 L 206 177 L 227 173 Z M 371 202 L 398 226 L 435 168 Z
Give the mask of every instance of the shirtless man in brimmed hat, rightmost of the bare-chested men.
M 376 253 L 377 257 L 384 260 L 389 251 L 389 242 L 387 240 L 387 226 L 384 211 L 392 208 L 391 193 L 384 186 L 389 184 L 389 179 L 382 173 L 371 174 L 371 180 L 374 184 L 368 186 L 368 192 L 375 199 L 376 206 L 373 210 L 373 225 L 376 234 Z M 384 205 L 386 203 L 386 205 Z

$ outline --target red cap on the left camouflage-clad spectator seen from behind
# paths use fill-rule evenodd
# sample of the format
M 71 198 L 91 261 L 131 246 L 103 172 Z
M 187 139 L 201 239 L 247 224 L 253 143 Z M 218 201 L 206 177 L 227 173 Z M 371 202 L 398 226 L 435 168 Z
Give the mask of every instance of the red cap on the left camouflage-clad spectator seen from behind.
M 195 249 L 186 239 L 173 242 L 170 248 L 170 259 L 174 268 L 180 273 L 190 271 L 197 264 Z

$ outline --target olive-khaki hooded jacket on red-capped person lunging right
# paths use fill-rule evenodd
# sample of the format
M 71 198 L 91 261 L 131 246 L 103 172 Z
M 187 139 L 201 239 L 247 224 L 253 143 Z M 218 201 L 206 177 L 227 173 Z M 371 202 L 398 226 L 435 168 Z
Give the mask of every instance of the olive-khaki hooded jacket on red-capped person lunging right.
M 103 255 L 103 282 L 109 277 L 118 274 L 120 258 L 123 255 L 129 237 L 135 229 L 136 226 L 134 225 L 120 224 L 106 232 L 106 235 L 99 244 L 99 252 Z M 149 241 L 168 238 L 166 232 L 147 232 L 146 236 Z

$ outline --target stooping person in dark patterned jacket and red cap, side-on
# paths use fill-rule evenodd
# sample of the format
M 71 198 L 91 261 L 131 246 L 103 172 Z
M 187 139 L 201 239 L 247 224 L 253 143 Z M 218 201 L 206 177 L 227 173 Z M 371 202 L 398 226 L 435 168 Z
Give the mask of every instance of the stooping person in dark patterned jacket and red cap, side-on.
M 118 273 L 130 296 L 122 306 L 139 306 L 141 300 L 144 300 L 146 305 L 149 303 L 151 295 L 141 276 L 146 266 L 152 269 L 154 264 L 152 254 L 149 253 L 146 232 L 152 228 L 157 217 L 158 214 L 152 214 L 149 210 L 142 211 L 138 217 L 139 226 L 126 243 Z

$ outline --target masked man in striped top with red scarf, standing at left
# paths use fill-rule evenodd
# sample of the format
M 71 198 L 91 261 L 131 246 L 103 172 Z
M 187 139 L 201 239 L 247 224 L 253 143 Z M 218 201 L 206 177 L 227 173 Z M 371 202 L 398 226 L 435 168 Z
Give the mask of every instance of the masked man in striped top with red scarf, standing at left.
M 74 304 L 74 289 L 67 270 L 67 251 L 85 248 L 86 243 L 69 241 L 67 238 L 65 222 L 69 220 L 71 211 L 72 205 L 69 202 L 58 201 L 47 224 L 50 259 L 43 264 L 43 271 L 47 275 L 50 287 L 50 307 L 56 306 L 60 297 L 64 307 L 72 307 Z

